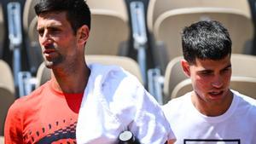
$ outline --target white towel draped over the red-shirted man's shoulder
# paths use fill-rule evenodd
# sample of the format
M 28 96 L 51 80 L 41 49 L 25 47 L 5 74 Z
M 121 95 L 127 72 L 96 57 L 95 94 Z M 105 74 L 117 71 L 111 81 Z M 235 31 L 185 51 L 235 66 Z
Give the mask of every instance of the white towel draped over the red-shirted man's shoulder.
M 93 64 L 90 71 L 79 110 L 79 144 L 117 143 L 127 129 L 145 144 L 174 138 L 160 106 L 137 78 L 119 66 Z

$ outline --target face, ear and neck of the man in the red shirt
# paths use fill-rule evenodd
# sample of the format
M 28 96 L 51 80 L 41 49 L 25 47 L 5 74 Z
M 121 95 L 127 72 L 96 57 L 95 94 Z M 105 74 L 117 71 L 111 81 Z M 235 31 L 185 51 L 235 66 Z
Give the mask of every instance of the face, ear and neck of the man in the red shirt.
M 53 70 L 55 88 L 64 93 L 83 93 L 90 75 L 84 60 L 88 26 L 73 32 L 66 12 L 38 15 L 38 39 L 45 66 Z

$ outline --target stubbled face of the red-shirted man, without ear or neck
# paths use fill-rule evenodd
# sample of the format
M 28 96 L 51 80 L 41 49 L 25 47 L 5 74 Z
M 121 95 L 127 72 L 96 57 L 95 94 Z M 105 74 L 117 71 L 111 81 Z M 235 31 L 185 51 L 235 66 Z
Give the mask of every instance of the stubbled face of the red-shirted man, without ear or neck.
M 47 67 L 72 63 L 78 55 L 77 36 L 67 21 L 66 12 L 39 14 L 37 29 Z

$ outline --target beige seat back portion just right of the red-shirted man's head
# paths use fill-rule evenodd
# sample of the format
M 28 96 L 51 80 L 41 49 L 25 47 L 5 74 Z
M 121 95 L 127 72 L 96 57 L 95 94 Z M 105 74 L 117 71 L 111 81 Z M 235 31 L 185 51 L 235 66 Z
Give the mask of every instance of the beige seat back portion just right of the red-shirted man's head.
M 91 11 L 91 29 L 85 55 L 118 55 L 119 44 L 129 37 L 125 0 L 86 0 Z

